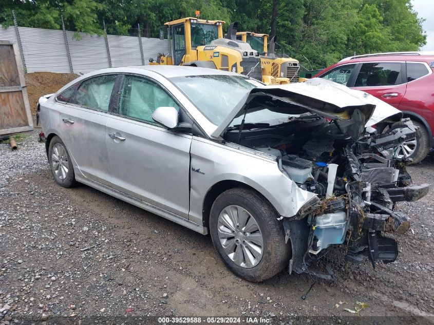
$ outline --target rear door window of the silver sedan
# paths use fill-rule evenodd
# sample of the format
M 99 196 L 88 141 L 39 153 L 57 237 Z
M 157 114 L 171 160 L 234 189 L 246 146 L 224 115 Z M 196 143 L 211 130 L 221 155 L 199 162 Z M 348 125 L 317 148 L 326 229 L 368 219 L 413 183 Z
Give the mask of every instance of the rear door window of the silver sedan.
M 101 75 L 85 80 L 77 90 L 74 104 L 93 109 L 108 111 L 111 90 L 115 85 L 117 75 Z

